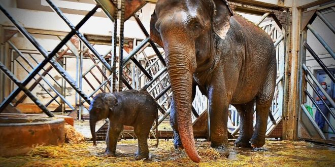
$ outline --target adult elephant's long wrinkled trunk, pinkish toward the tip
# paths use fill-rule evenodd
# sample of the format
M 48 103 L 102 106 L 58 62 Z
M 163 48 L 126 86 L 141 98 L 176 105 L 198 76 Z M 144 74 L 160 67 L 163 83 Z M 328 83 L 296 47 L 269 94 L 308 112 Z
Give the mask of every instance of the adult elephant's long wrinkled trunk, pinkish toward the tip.
M 199 162 L 192 129 L 191 118 L 191 94 L 193 72 L 196 67 L 195 54 L 181 46 L 173 47 L 166 51 L 168 58 L 166 64 L 170 75 L 171 87 L 177 112 L 177 123 L 179 135 L 187 155 L 194 161 Z

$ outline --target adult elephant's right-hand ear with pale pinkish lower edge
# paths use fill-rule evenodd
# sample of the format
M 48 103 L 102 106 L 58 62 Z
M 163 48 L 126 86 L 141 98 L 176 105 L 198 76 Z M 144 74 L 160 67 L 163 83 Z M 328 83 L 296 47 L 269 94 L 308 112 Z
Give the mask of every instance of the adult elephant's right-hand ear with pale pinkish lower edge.
M 227 1 L 225 0 L 214 0 L 214 19 L 213 27 L 214 32 L 220 36 L 221 39 L 225 39 L 227 32 L 230 28 L 230 16 L 233 15 Z

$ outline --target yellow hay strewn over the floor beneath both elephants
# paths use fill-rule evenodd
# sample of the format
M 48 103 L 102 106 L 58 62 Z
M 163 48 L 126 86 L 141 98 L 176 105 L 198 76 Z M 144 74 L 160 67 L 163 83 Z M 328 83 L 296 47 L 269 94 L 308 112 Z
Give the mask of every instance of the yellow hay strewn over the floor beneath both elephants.
M 175 151 L 172 141 L 149 140 L 150 158 L 148 160 L 134 159 L 134 153 L 117 152 L 116 157 L 103 156 L 106 142 L 91 142 L 81 144 L 64 144 L 50 147 L 38 146 L 27 156 L 2 158 L 2 166 L 333 166 L 335 151 L 324 146 L 314 147 L 313 144 L 298 141 L 266 141 L 262 150 L 233 147 L 229 143 L 230 156 L 220 156 L 210 148 L 210 142 L 197 141 L 198 153 L 202 161 L 192 162 L 184 150 Z M 137 140 L 122 140 L 118 142 L 125 148 L 137 147 Z

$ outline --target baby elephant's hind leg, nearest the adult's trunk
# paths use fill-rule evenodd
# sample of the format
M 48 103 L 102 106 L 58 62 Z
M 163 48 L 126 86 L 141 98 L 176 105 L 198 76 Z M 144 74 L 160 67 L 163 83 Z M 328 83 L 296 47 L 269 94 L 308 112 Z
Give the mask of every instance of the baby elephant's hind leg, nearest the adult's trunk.
M 148 149 L 148 136 L 150 133 L 151 126 L 145 126 L 144 124 L 138 124 L 135 127 L 134 133 L 138 139 L 138 151 L 135 155 L 135 159 L 146 159 L 149 158 L 149 149 Z

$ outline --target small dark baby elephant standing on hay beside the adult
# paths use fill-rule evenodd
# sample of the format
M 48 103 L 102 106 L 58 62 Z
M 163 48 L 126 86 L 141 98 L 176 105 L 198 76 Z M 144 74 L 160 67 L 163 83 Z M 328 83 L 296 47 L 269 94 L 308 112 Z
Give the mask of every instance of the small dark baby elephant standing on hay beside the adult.
M 105 155 L 115 156 L 116 143 L 123 126 L 134 127 L 138 138 L 136 159 L 149 157 L 147 138 L 154 120 L 157 118 L 159 105 L 147 92 L 124 91 L 120 93 L 101 93 L 94 97 L 89 108 L 90 129 L 93 145 L 96 145 L 95 123 L 104 118 L 109 119 L 107 148 Z M 157 138 L 157 137 L 156 137 Z M 158 145 L 158 138 L 156 147 Z

